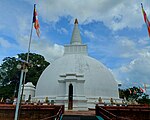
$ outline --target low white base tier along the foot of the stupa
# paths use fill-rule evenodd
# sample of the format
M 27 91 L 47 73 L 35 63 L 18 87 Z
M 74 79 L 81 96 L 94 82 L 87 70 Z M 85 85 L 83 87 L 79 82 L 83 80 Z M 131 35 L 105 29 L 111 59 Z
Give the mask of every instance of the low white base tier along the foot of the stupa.
M 97 97 L 97 96 L 73 96 L 73 100 L 71 105 L 69 106 L 69 100 L 68 96 L 48 96 L 49 104 L 55 104 L 55 105 L 64 105 L 65 110 L 73 110 L 73 111 L 78 111 L 78 110 L 88 110 L 88 109 L 95 109 L 96 104 L 101 104 L 101 105 L 112 105 L 112 104 L 122 104 L 122 99 L 119 98 L 111 98 L 109 97 Z M 40 97 L 34 97 L 32 98 L 33 102 L 38 102 L 41 101 L 41 103 L 45 103 L 45 96 L 40 96 Z

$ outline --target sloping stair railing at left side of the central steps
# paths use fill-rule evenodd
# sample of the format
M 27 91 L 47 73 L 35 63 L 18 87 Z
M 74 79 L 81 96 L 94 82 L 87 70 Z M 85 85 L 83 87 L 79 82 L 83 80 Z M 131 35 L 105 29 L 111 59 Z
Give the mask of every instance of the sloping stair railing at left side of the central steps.
M 55 114 L 53 116 L 47 116 L 47 117 L 42 118 L 40 120 L 61 120 L 63 112 L 64 112 L 64 106 L 61 106 L 59 108 L 57 114 Z

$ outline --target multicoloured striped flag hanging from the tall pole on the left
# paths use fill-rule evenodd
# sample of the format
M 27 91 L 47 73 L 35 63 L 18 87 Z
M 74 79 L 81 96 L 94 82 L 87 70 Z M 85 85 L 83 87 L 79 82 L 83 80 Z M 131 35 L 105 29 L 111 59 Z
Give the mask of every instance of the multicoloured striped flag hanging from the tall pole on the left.
M 37 12 L 36 12 L 36 4 L 34 4 L 33 24 L 34 24 L 34 28 L 36 29 L 37 36 L 40 37 L 40 25 L 38 21 Z

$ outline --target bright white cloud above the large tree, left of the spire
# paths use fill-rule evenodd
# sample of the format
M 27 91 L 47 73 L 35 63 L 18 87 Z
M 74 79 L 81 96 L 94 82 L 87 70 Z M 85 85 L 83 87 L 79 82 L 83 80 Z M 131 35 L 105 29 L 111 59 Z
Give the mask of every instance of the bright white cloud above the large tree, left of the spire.
M 46 40 L 47 38 L 41 38 L 40 40 L 32 39 L 31 41 L 31 52 L 39 53 L 45 57 L 49 62 L 59 58 L 64 53 L 64 47 L 58 44 L 53 44 L 50 41 Z M 18 44 L 22 51 L 27 50 L 28 48 L 28 36 L 20 37 Z

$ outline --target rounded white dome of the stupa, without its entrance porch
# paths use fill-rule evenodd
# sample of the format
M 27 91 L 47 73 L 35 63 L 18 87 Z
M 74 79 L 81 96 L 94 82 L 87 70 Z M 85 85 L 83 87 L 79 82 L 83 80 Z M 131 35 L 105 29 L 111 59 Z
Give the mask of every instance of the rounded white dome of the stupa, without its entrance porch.
M 99 61 L 82 54 L 68 54 L 55 60 L 41 75 L 36 96 L 52 96 L 65 94 L 59 91 L 58 80 L 69 76 L 80 77 L 83 75 L 84 95 L 101 97 L 118 97 L 117 82 L 111 72 Z

